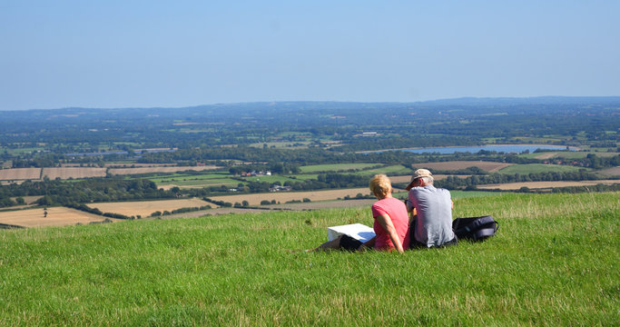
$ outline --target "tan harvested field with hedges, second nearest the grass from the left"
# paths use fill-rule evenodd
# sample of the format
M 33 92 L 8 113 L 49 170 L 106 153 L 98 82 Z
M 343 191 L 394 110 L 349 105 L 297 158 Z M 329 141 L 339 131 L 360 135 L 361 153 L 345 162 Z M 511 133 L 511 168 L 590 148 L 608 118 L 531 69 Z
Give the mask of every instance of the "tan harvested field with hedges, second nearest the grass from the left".
M 175 209 L 202 207 L 204 205 L 211 205 L 212 207 L 217 206 L 213 203 L 207 203 L 196 198 L 121 203 L 90 203 L 87 205 L 91 208 L 97 208 L 103 213 L 121 213 L 130 217 L 137 215 L 147 217 L 156 211 L 163 213 L 164 211 L 172 212 L 172 210 Z

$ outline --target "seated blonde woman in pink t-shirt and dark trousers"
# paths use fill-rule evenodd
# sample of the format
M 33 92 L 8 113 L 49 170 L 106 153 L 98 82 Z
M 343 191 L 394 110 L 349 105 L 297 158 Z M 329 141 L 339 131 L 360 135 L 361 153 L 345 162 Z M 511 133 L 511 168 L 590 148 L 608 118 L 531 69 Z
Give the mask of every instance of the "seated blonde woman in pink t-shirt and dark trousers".
M 361 243 L 349 235 L 321 244 L 314 251 L 342 249 L 360 251 L 368 248 L 399 253 L 409 247 L 409 219 L 405 203 L 392 197 L 392 183 L 384 174 L 375 175 L 369 183 L 370 191 L 379 201 L 372 204 L 373 229 L 376 236 L 367 243 Z

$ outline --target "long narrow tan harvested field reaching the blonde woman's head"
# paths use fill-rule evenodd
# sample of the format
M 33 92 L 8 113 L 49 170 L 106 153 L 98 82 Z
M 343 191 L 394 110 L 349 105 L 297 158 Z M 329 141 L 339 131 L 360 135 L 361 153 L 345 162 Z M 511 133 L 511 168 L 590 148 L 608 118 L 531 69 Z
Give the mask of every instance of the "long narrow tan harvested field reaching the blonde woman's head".
M 286 203 L 293 200 L 302 201 L 304 198 L 308 198 L 310 201 L 326 201 L 344 198 L 347 195 L 353 197 L 358 193 L 370 194 L 370 190 L 368 187 L 362 187 L 329 191 L 250 193 L 241 195 L 214 196 L 212 197 L 212 200 L 227 203 L 242 203 L 243 200 L 245 200 L 250 203 L 250 205 L 260 205 L 263 200 L 267 200 L 269 202 L 271 202 L 271 200 L 275 200 L 280 203 Z

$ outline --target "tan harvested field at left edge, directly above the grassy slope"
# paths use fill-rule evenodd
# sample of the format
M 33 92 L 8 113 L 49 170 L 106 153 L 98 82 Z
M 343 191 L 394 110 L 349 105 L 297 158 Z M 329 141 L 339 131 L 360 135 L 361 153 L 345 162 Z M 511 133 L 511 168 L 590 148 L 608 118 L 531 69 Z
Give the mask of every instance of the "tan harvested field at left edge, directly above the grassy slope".
M 84 213 L 65 207 L 47 208 L 47 217 L 44 217 L 43 209 L 26 209 L 0 213 L 0 223 L 22 227 L 64 226 L 74 225 L 76 223 L 86 224 L 103 222 L 106 218 L 107 217 L 93 213 Z M 107 219 L 119 221 L 119 219 Z

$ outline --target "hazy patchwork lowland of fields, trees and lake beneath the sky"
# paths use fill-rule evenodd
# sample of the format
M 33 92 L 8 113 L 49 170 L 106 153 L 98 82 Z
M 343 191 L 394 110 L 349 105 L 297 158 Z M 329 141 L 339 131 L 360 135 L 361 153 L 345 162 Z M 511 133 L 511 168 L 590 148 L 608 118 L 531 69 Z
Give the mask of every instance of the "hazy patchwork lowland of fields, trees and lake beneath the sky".
M 13 210 L 45 224 L 42 208 L 54 206 L 102 221 L 281 203 L 330 207 L 369 197 L 364 188 L 375 173 L 402 187 L 420 167 L 450 190 L 591 192 L 620 184 L 620 97 L 65 108 L 5 111 L 0 120 L 6 226 L 20 225 Z M 199 204 L 169 204 L 181 199 Z M 126 201 L 135 204 L 113 204 Z

